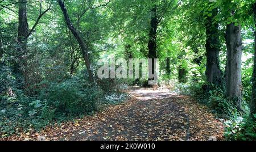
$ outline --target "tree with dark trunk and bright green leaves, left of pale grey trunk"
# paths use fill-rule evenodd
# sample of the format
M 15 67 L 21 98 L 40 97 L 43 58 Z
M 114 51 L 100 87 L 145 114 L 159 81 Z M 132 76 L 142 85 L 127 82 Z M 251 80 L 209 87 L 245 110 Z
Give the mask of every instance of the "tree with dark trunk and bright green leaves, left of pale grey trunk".
M 198 66 L 206 64 L 204 74 L 207 82 L 216 86 L 224 85 L 220 67 L 221 32 L 219 24 L 221 20 L 218 18 L 218 3 L 185 1 L 180 9 L 184 12 L 184 35 L 189 37 L 186 40 L 187 45 L 195 53 L 193 63 Z M 201 45 L 202 43 L 205 45 Z M 204 58 L 206 58 L 206 63 L 204 63 Z

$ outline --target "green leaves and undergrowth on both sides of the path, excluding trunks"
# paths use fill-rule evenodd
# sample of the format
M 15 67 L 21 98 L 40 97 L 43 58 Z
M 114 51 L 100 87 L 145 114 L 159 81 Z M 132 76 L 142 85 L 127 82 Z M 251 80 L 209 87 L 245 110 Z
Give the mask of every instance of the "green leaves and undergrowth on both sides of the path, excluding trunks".
M 147 86 L 148 79 L 97 79 L 89 83 L 85 60 L 96 74 L 98 60 L 148 58 L 152 10 L 156 8 L 156 55 L 159 84 L 175 82 L 175 92 L 193 96 L 218 117 L 230 119 L 232 140 L 254 139 L 253 121 L 239 117 L 249 111 L 254 54 L 255 1 L 222 0 L 76 0 L 62 1 L 73 28 L 81 35 L 88 54 L 69 31 L 57 1 L 27 1 L 28 31 L 43 14 L 20 51 L 19 1 L 0 1 L 0 134 L 42 128 L 54 121 L 92 115 L 102 107 L 123 102 L 127 86 Z M 50 5 L 51 4 L 51 5 Z M 226 66 L 226 26 L 241 24 L 242 112 L 225 96 L 224 86 L 206 82 L 207 19 L 214 15 L 220 37 L 220 69 Z M 42 15 L 42 14 L 41 14 Z M 89 58 L 86 58 L 86 57 Z M 217 56 L 218 57 L 218 56 Z M 25 61 L 25 62 L 24 62 Z M 88 62 L 88 61 L 87 61 Z M 20 64 L 23 63 L 23 64 Z M 169 64 L 169 65 L 167 65 Z M 148 70 L 148 69 L 143 69 Z M 176 83 L 183 82 L 182 84 Z M 173 85 L 173 84 L 172 84 Z M 234 117 L 234 118 L 233 118 Z M 236 118 L 235 118 L 236 117 Z M 246 123 L 245 123 L 246 122 Z M 16 130 L 15 130 L 16 128 Z M 236 133 L 232 130 L 236 128 Z M 243 136 L 241 136 L 241 134 Z

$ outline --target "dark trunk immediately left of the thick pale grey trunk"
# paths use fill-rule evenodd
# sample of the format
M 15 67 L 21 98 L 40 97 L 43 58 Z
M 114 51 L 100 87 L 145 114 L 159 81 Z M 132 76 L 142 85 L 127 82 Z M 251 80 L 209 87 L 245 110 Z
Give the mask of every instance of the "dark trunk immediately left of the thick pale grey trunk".
M 212 16 L 207 17 L 206 27 L 206 52 L 207 52 L 207 81 L 217 86 L 222 86 L 222 71 L 220 69 L 220 40 L 218 34 L 218 23 L 214 23 L 214 17 L 218 10 L 212 11 Z

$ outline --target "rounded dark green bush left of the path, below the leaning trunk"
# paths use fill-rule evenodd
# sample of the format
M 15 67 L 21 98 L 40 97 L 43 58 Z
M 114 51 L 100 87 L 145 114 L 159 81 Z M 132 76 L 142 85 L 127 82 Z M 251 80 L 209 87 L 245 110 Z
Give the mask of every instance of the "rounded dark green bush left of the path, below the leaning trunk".
M 87 84 L 89 85 L 89 84 Z M 67 79 L 61 83 L 51 83 L 39 95 L 40 100 L 47 100 L 56 114 L 81 115 L 93 113 L 102 91 L 97 87 L 87 86 L 79 78 Z

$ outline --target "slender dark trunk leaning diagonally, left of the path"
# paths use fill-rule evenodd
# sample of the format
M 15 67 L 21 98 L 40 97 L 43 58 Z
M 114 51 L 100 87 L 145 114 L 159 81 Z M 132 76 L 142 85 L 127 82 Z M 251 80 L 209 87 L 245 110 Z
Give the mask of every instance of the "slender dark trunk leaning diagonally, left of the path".
M 80 33 L 76 30 L 76 28 L 71 23 L 71 20 L 69 19 L 68 12 L 67 12 L 67 9 L 66 9 L 64 3 L 61 0 L 58 0 L 58 2 L 59 2 L 59 5 L 60 5 L 60 8 L 61 8 L 61 11 L 63 12 L 65 22 L 67 23 L 67 26 L 68 26 L 69 30 L 72 32 L 73 36 L 75 36 L 77 42 L 80 45 L 80 48 L 81 48 L 81 51 L 82 51 L 82 56 L 84 57 L 85 65 L 86 65 L 87 70 L 88 70 L 89 80 L 90 80 L 90 82 L 95 82 L 92 66 L 91 66 L 90 60 L 89 60 L 88 47 L 86 46 L 84 40 L 82 40 L 82 37 L 80 36 Z

